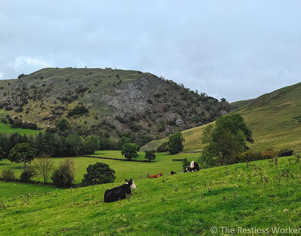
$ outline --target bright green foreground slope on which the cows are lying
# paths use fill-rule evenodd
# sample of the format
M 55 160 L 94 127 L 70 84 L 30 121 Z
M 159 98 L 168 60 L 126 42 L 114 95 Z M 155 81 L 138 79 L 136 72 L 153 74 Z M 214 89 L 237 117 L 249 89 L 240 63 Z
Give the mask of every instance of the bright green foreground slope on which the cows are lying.
M 138 179 L 129 201 L 102 203 L 104 191 L 121 183 L 53 191 L 25 203 L 3 199 L 10 207 L 0 209 L 2 234 L 211 236 L 212 226 L 219 229 L 216 235 L 228 235 L 221 233 L 223 226 L 300 228 L 301 175 L 296 158 L 289 158 L 291 165 L 286 157 L 278 167 L 263 160 L 249 168 L 243 163 Z

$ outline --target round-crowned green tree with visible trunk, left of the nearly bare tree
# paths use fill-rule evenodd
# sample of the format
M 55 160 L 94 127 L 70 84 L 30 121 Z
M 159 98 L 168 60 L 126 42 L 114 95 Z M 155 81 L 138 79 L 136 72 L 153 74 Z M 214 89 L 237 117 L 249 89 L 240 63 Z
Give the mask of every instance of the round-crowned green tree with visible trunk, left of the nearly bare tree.
M 16 164 L 23 163 L 24 170 L 26 170 L 26 163 L 30 164 L 36 153 L 36 150 L 30 147 L 28 143 L 18 143 L 11 149 L 8 160 Z

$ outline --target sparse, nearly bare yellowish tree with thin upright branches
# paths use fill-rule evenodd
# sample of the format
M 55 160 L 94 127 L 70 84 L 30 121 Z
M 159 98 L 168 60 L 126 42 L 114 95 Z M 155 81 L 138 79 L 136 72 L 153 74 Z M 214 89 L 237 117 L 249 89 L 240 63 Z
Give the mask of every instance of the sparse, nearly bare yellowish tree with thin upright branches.
M 54 160 L 51 155 L 42 153 L 33 159 L 33 165 L 36 167 L 36 174 L 44 178 L 44 184 L 47 182 L 50 171 L 54 167 Z

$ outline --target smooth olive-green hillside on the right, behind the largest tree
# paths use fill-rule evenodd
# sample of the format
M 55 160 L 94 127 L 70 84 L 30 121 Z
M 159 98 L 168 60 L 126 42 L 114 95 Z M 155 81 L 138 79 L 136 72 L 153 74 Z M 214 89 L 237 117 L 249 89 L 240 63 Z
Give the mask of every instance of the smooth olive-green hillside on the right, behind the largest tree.
M 301 83 L 278 89 L 254 99 L 250 104 L 231 113 L 239 112 L 247 126 L 253 131 L 255 143 L 251 148 L 262 150 L 292 148 L 301 151 L 301 123 L 293 120 L 301 115 Z M 199 126 L 182 132 L 185 143 L 183 151 L 201 150 L 202 132 L 206 126 Z M 156 148 L 166 139 L 148 143 L 147 149 Z M 141 151 L 144 148 L 141 149 Z

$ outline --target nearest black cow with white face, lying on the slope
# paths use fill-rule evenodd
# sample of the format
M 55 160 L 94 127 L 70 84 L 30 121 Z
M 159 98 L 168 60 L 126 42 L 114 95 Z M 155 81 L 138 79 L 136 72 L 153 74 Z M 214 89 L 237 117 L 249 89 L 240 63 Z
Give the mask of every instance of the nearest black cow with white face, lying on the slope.
M 131 188 L 135 189 L 136 185 L 132 179 L 124 179 L 126 181 L 125 184 L 112 188 L 112 189 L 107 189 L 104 192 L 104 202 L 105 203 L 112 203 L 116 202 L 119 199 L 125 199 L 126 195 L 132 194 Z

